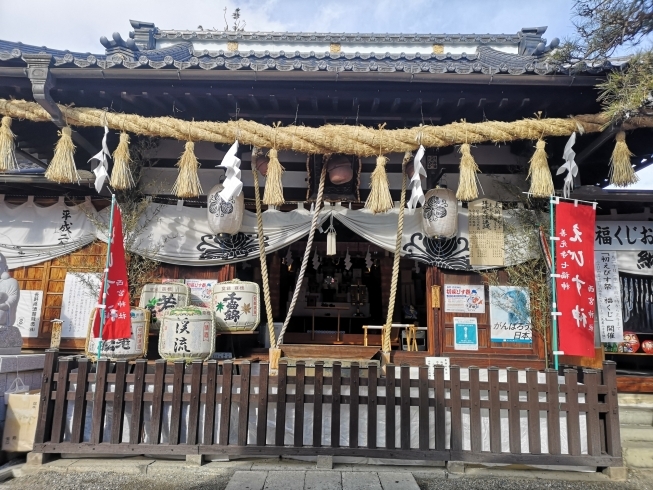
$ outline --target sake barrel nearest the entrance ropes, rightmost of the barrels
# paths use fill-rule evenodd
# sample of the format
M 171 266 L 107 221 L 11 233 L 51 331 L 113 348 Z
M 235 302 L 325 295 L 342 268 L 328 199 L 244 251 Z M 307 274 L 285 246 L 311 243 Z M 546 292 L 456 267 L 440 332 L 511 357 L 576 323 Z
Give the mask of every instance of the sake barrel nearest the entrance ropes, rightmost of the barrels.
M 255 282 L 219 282 L 213 285 L 211 305 L 216 328 L 222 331 L 249 331 L 261 320 L 261 293 Z

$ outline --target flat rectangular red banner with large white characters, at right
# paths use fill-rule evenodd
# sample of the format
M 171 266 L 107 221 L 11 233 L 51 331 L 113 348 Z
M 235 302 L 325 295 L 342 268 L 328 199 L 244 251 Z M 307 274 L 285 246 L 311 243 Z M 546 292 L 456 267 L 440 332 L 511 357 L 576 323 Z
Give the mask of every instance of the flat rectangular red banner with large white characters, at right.
M 567 356 L 594 357 L 596 211 L 592 206 L 561 202 L 555 217 L 558 349 Z

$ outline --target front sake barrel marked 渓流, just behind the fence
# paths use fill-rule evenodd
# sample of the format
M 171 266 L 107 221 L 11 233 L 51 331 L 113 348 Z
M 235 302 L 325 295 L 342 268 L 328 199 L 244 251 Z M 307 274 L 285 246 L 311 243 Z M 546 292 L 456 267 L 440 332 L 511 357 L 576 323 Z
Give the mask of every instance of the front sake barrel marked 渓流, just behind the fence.
M 166 310 L 161 318 L 159 355 L 171 361 L 203 361 L 215 349 L 215 324 L 210 308 L 187 306 Z

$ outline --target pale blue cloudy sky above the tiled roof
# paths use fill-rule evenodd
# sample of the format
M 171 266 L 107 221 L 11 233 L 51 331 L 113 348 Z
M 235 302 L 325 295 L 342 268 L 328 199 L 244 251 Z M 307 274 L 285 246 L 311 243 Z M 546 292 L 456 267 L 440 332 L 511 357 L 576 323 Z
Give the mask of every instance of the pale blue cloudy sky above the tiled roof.
M 573 0 L 0 0 L 0 39 L 103 53 L 100 37 L 130 19 L 162 29 L 223 29 L 223 9 L 241 9 L 248 31 L 513 34 L 548 26 L 545 37 L 573 34 Z M 230 20 L 230 17 L 228 17 Z

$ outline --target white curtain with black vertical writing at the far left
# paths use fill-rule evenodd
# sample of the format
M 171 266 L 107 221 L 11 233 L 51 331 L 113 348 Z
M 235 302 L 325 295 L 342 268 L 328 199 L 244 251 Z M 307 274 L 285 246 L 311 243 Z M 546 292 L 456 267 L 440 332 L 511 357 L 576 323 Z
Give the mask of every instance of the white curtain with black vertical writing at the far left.
M 20 205 L 0 199 L 0 253 L 10 269 L 26 267 L 69 254 L 97 236 L 90 198 L 79 206 L 66 206 L 64 198 L 42 207 L 34 198 Z

